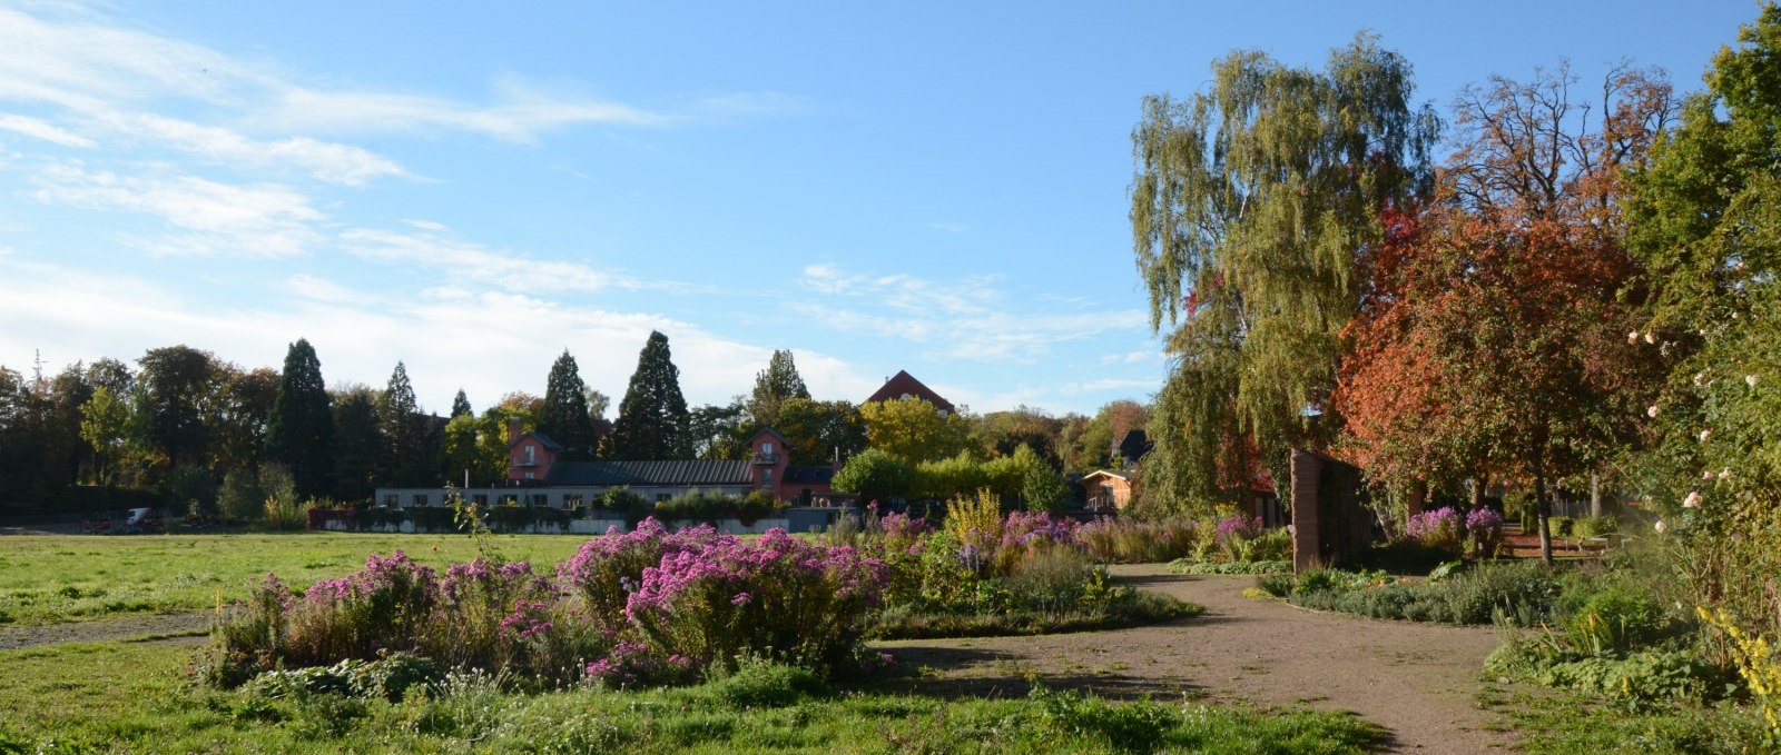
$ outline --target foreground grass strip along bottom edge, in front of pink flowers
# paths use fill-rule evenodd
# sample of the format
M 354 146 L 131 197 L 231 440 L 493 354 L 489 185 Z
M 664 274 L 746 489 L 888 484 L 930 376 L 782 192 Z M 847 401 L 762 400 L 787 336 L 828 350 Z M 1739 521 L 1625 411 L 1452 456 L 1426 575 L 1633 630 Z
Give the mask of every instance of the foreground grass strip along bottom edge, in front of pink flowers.
M 0 652 L 0 751 L 1361 753 L 1384 741 L 1377 725 L 1336 712 L 1061 691 L 942 700 L 812 691 L 784 675 L 641 693 L 459 682 L 399 702 L 265 698 L 189 684 L 191 654 L 167 643 Z

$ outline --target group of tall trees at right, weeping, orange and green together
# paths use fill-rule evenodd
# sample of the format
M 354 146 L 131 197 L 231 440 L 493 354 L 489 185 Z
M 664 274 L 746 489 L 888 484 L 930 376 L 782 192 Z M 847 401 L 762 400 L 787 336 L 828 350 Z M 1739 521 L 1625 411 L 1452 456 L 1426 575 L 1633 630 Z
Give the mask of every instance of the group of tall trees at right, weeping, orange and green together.
M 1147 98 L 1131 230 L 1170 356 L 1147 502 L 1240 499 L 1300 447 L 1398 511 L 1507 484 L 1542 543 L 1560 490 L 1774 504 L 1774 4 L 1738 43 L 1687 98 L 1560 62 L 1443 114 L 1364 34 L 1322 69 L 1238 52 Z

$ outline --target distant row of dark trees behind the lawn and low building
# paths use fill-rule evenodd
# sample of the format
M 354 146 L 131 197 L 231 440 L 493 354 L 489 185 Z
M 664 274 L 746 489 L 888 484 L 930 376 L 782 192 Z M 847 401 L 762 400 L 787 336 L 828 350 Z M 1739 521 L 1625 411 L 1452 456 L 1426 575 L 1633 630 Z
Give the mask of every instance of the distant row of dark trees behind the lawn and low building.
M 379 486 L 495 484 L 508 472 L 513 420 L 550 436 L 568 461 L 744 459 L 748 440 L 771 427 L 789 440 L 793 465 L 876 449 L 908 465 L 955 467 L 1019 454 L 1022 468 L 1035 458 L 1061 472 L 1106 465 L 1108 447 L 1142 427 L 1147 411 L 1117 401 L 1095 417 L 1026 406 L 942 417 L 921 401 L 817 401 L 791 351 L 775 351 L 748 394 L 689 408 L 663 333 L 650 333 L 607 420 L 611 410 L 566 349 L 541 397 L 509 392 L 476 411 L 459 390 L 447 415 L 419 406 L 401 361 L 381 388 L 329 388 L 317 349 L 303 338 L 276 370 L 189 345 L 55 374 L 0 365 L 0 513 L 173 506 L 246 515 L 269 490 L 367 502 Z M 971 479 L 990 479 L 980 477 Z

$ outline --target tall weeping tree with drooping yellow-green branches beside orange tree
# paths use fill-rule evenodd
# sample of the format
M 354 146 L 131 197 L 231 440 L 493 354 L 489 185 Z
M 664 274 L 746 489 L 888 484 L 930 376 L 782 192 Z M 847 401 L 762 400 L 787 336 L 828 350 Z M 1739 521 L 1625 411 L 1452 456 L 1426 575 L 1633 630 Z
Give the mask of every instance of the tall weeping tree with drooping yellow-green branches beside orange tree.
M 1211 89 L 1143 100 L 1131 230 L 1170 376 L 1145 490 L 1168 507 L 1286 479 L 1293 445 L 1339 417 L 1341 329 L 1380 210 L 1427 189 L 1439 119 L 1411 103 L 1411 64 L 1370 34 L 1323 71 L 1261 52 L 1213 64 Z

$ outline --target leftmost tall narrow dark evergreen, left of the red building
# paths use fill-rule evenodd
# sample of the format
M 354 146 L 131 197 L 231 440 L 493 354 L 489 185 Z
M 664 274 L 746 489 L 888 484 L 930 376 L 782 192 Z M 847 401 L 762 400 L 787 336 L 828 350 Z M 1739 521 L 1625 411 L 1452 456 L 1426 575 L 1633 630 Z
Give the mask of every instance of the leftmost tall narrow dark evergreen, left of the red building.
M 265 456 L 290 470 L 297 495 L 328 495 L 333 483 L 333 399 L 322 383 L 322 363 L 306 338 L 285 353 L 285 370 L 265 431 Z

